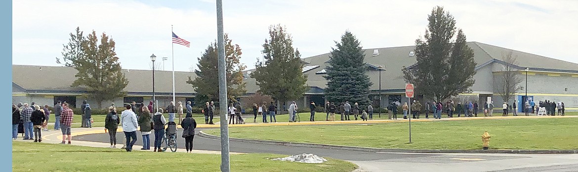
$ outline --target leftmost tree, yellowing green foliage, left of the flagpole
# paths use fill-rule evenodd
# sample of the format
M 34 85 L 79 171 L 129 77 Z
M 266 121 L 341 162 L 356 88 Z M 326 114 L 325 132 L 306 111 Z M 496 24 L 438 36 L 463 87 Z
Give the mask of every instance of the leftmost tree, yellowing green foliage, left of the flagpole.
M 124 77 L 114 52 L 114 40 L 105 33 L 99 40 L 94 30 L 83 37 L 80 29 L 76 28 L 76 34 L 71 33 L 69 41 L 68 45 L 64 45 L 62 59 L 65 66 L 78 71 L 71 87 L 86 87 L 86 97 L 95 100 L 98 108 L 102 107 L 102 101 L 126 95 L 124 88 L 128 85 L 128 79 Z M 62 64 L 58 58 L 57 63 Z

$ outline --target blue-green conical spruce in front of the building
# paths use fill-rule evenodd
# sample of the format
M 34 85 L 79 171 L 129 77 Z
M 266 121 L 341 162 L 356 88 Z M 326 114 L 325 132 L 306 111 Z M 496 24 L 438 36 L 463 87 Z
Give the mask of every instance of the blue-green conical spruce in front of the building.
M 329 65 L 325 68 L 327 82 L 325 96 L 331 102 L 358 102 L 360 106 L 369 105 L 369 87 L 372 83 L 365 74 L 367 66 L 361 43 L 351 32 L 341 36 L 341 42 L 335 41 L 329 56 Z

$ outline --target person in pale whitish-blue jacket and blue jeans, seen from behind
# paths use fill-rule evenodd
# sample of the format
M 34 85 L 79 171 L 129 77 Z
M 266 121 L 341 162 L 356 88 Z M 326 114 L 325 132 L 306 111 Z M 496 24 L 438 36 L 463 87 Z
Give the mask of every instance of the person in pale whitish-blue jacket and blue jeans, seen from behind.
M 123 113 L 121 113 L 123 120 L 123 131 L 124 135 L 127 136 L 126 150 L 127 152 L 132 151 L 132 146 L 136 143 L 136 128 L 139 124 L 136 120 L 136 114 L 132 112 L 131 105 L 126 105 Z

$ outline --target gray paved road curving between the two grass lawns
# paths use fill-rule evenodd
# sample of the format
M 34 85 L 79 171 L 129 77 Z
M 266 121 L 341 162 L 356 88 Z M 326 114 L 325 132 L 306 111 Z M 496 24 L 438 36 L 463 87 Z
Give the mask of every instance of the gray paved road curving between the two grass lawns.
M 202 130 L 198 128 L 197 131 Z M 180 131 L 177 133 L 181 135 Z M 123 138 L 119 132 L 119 141 Z M 154 135 L 151 135 L 154 143 Z M 178 148 L 184 149 L 184 139 L 179 137 Z M 73 140 L 108 142 L 107 133 L 75 136 Z M 142 145 L 138 137 L 137 145 Z M 220 151 L 220 140 L 195 136 L 195 150 Z M 274 146 L 268 144 L 231 142 L 232 152 L 271 154 L 316 154 L 324 157 L 349 160 L 361 171 L 578 171 L 578 155 L 521 155 L 521 154 L 399 154 Z

